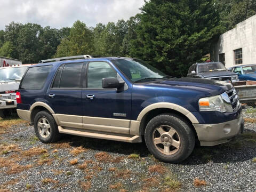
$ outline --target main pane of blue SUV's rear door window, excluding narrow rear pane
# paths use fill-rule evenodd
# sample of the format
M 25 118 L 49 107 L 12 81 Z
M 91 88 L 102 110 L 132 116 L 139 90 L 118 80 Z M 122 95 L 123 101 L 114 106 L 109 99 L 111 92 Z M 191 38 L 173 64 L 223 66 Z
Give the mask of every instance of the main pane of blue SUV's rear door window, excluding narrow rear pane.
M 83 63 L 65 64 L 60 78 L 60 88 L 81 87 Z

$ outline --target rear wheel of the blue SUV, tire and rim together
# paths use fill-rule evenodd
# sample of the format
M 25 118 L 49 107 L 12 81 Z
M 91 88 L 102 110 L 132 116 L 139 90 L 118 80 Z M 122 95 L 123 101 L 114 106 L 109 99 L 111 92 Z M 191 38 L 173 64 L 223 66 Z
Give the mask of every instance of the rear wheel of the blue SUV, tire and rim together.
M 58 141 L 60 133 L 53 116 L 47 111 L 39 111 L 34 119 L 36 135 L 43 143 Z

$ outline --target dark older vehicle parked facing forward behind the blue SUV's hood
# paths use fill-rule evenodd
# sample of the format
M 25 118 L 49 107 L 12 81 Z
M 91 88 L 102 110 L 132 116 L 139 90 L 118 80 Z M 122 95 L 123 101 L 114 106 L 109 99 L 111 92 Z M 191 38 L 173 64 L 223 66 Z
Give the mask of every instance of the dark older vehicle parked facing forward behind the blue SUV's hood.
M 188 70 L 187 77 L 207 78 L 226 82 L 237 82 L 237 74 L 228 71 L 221 62 L 207 61 L 194 63 Z

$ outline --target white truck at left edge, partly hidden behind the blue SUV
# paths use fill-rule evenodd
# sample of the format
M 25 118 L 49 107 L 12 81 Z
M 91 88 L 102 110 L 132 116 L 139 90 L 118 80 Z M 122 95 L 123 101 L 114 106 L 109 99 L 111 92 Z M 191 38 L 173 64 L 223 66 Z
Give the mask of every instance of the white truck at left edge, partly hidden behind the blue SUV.
M 16 92 L 27 68 L 27 65 L 0 68 L 0 117 L 9 116 L 16 110 Z

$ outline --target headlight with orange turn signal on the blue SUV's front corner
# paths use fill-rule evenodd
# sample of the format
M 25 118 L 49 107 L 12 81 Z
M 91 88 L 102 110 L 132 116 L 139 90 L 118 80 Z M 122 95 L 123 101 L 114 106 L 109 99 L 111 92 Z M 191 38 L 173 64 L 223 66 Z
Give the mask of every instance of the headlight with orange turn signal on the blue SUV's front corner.
M 200 111 L 233 112 L 230 99 L 226 92 L 212 97 L 201 98 L 198 101 L 198 105 Z

